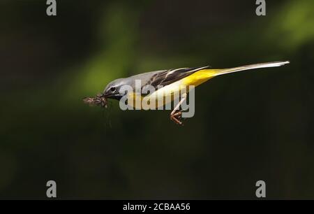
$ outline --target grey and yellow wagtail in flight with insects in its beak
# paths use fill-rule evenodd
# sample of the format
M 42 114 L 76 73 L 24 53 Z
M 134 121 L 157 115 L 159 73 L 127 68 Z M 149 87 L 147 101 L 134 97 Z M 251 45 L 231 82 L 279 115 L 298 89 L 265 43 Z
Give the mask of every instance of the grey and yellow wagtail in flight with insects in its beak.
M 107 107 L 107 99 L 117 99 L 121 100 L 122 97 L 127 97 L 128 105 L 133 105 L 134 101 L 142 100 L 144 98 L 162 99 L 165 97 L 171 97 L 176 92 L 181 92 L 182 88 L 187 86 L 196 87 L 207 80 L 214 78 L 215 76 L 220 76 L 226 73 L 233 73 L 237 71 L 245 71 L 251 69 L 261 69 L 268 67 L 282 66 L 284 64 L 290 63 L 289 61 L 283 62 L 266 62 L 260 64 L 251 64 L 246 66 L 239 66 L 231 69 L 210 69 L 209 66 L 196 67 L 196 68 L 181 68 L 181 69 L 169 69 L 162 71 L 151 71 L 147 73 L 140 73 L 135 76 L 130 76 L 128 78 L 119 78 L 113 80 L 109 83 L 102 94 L 98 94 L 96 97 L 84 98 L 84 102 L 91 105 Z M 135 92 L 136 81 L 140 80 L 140 87 L 150 86 L 155 89 L 154 93 L 143 94 L 141 92 Z M 121 90 L 122 87 L 128 85 L 133 89 L 132 93 L 126 94 L 125 91 Z M 188 87 L 190 88 L 190 87 Z M 185 101 L 186 94 L 189 92 L 187 90 L 182 94 L 179 103 L 174 107 L 170 113 L 170 119 L 177 124 L 182 124 L 180 118 L 182 110 L 180 110 L 180 105 Z M 160 97 L 161 96 L 161 97 Z M 131 102 L 129 102 L 131 100 Z M 172 99 L 173 100 L 173 99 Z M 171 100 L 171 101 L 172 101 Z M 132 102 L 133 101 L 133 102 Z M 133 103 L 133 104 L 132 104 Z M 158 103 L 159 104 L 159 103 Z M 161 105 L 165 105 L 162 102 Z

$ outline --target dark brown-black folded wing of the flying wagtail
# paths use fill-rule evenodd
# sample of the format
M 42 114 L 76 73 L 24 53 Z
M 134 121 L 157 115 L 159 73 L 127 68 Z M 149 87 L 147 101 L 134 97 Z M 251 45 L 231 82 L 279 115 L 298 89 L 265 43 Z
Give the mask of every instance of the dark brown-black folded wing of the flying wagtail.
M 157 89 L 158 85 L 160 86 L 170 85 L 171 83 L 177 82 L 178 80 L 181 80 L 187 76 L 190 76 L 192 73 L 195 73 L 196 71 L 200 71 L 202 69 L 207 69 L 207 68 L 209 68 L 209 66 L 195 67 L 195 68 L 170 69 L 166 71 L 161 71 L 151 76 L 151 78 L 147 81 L 147 83 L 143 85 L 142 87 L 151 85 L 155 89 Z

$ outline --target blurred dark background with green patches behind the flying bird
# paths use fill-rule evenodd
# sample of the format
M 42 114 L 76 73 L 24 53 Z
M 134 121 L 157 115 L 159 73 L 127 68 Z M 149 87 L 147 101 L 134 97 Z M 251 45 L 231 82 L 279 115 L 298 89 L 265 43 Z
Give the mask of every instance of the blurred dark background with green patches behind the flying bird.
M 0 197 L 314 199 L 314 1 L 0 3 Z M 197 87 L 165 111 L 82 104 L 115 78 L 183 66 L 290 60 Z

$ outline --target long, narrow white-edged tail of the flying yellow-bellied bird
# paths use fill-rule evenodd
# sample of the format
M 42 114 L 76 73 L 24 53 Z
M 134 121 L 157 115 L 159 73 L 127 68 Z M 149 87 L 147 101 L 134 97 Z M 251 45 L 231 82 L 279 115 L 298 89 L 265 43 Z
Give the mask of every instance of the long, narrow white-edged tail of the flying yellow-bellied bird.
M 282 62 L 265 62 L 265 63 L 258 63 L 258 64 L 250 64 L 246 66 L 239 66 L 231 69 L 218 69 L 216 70 L 216 73 L 214 76 L 219 76 L 225 73 L 233 73 L 237 71 L 245 71 L 250 69 L 262 69 L 262 68 L 268 68 L 268 67 L 277 67 L 277 66 L 283 66 L 285 64 L 289 64 L 289 61 L 282 61 Z

